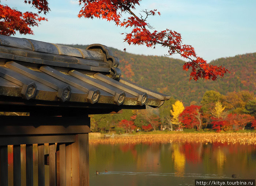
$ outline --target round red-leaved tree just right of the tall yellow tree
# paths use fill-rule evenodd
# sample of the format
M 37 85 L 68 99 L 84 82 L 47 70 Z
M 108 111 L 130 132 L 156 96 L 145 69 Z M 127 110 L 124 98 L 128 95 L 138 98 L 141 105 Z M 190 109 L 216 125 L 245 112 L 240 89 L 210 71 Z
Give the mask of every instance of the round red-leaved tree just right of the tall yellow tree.
M 180 122 L 185 125 L 185 128 L 192 129 L 196 126 L 197 130 L 202 128 L 201 106 L 187 106 L 179 116 Z

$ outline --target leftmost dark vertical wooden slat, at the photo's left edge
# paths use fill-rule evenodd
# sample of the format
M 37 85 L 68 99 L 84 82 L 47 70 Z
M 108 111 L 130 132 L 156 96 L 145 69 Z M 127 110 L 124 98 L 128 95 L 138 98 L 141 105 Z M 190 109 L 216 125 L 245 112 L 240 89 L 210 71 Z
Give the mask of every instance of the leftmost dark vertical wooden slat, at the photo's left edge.
M 8 186 L 8 146 L 0 146 L 0 185 Z

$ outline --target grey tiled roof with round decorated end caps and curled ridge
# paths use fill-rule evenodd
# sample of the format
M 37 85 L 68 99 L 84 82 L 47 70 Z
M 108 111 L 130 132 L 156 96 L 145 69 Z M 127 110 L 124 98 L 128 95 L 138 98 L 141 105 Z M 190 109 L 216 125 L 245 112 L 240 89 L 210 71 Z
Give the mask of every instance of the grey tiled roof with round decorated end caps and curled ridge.
M 0 97 L 159 107 L 170 96 L 120 78 L 108 47 L 87 49 L 0 35 Z

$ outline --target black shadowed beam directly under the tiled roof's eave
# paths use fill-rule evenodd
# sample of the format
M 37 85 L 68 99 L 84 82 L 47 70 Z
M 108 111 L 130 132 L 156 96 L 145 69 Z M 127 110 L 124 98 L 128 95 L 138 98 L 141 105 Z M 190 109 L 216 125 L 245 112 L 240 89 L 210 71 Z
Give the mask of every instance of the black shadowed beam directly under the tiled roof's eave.
M 146 109 L 146 105 L 113 105 L 113 104 L 91 104 L 72 102 L 59 102 L 59 101 L 42 101 L 42 100 L 29 100 L 0 96 L 0 111 L 3 112 L 29 112 L 34 116 L 54 116 L 54 115 L 69 115 L 79 116 L 81 114 L 108 114 L 112 111 L 118 112 L 121 109 Z

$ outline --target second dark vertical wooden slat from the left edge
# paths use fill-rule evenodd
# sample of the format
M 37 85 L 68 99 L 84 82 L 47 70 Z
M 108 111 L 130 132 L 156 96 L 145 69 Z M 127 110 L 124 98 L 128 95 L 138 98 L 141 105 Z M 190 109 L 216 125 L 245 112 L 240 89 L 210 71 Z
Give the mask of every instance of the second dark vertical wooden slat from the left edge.
M 20 164 L 20 145 L 13 146 L 13 181 L 14 186 L 21 185 L 21 164 Z

